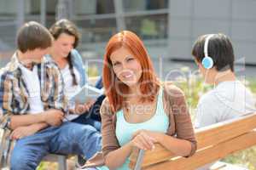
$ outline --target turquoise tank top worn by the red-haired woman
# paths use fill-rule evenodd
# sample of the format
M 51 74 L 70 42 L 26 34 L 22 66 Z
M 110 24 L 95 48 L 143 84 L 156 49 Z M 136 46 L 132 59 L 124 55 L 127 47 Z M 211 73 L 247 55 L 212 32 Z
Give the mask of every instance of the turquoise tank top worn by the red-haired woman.
M 116 137 L 119 141 L 120 146 L 127 144 L 131 141 L 133 133 L 136 133 L 137 130 L 147 129 L 149 131 L 166 133 L 169 127 L 169 117 L 164 111 L 163 101 L 162 101 L 163 90 L 160 88 L 160 93 L 157 99 L 157 106 L 154 116 L 152 116 L 146 122 L 140 123 L 130 123 L 125 121 L 125 116 L 123 110 L 120 110 L 116 113 Z M 128 170 L 129 169 L 129 158 L 126 159 L 125 163 L 117 168 L 118 170 Z M 108 167 L 96 167 L 100 170 L 108 170 Z

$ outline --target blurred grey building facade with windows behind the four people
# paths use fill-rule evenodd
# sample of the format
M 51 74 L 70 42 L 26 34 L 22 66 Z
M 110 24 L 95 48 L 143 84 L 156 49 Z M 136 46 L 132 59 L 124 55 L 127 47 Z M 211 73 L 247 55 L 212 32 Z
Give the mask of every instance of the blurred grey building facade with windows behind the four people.
M 201 34 L 223 32 L 236 61 L 256 65 L 256 0 L 0 0 L 0 50 L 15 48 L 15 32 L 28 20 L 51 26 L 68 18 L 79 26 L 85 55 L 101 56 L 121 30 L 135 31 L 152 57 L 192 59 Z

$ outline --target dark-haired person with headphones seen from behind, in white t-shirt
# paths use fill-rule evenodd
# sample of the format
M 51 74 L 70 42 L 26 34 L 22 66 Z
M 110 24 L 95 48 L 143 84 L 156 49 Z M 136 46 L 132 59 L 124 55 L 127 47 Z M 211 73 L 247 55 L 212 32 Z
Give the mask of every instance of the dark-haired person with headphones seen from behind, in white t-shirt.
M 253 94 L 236 79 L 235 56 L 227 36 L 218 33 L 199 37 L 192 54 L 205 82 L 214 85 L 199 100 L 195 127 L 205 127 L 253 111 Z

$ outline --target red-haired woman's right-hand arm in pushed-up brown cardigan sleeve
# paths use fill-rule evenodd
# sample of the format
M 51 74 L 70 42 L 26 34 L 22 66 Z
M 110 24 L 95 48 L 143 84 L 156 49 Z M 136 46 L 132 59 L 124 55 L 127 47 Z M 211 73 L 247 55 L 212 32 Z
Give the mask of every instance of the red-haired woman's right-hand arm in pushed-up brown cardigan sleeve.
M 171 126 L 167 134 L 157 138 L 166 149 L 173 151 L 179 156 L 192 156 L 196 150 L 194 128 L 189 115 L 189 108 L 186 103 L 183 91 L 172 84 L 165 87 L 165 106 L 169 114 Z M 175 132 L 172 132 L 172 129 Z M 176 135 L 175 138 L 171 135 Z M 171 144 L 171 145 L 170 145 Z M 172 145 L 174 148 L 172 148 Z

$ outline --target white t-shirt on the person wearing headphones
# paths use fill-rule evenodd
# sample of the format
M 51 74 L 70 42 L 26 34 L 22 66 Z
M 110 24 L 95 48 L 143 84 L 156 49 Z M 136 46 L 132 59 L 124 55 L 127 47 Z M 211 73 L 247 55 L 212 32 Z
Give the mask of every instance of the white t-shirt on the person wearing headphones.
M 253 94 L 240 81 L 220 82 L 199 100 L 195 128 L 224 122 L 253 111 Z

